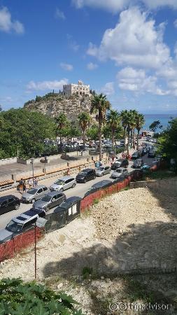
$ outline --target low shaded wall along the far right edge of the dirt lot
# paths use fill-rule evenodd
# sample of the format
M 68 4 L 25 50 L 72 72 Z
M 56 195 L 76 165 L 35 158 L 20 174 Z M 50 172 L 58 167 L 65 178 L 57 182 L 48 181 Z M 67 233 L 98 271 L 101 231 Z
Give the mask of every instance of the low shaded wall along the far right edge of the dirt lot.
M 177 177 L 171 179 L 158 179 L 154 181 L 136 181 L 130 183 L 130 188 L 143 188 L 148 187 L 150 189 L 158 189 L 170 193 L 171 195 L 177 195 Z

